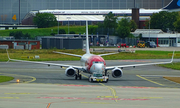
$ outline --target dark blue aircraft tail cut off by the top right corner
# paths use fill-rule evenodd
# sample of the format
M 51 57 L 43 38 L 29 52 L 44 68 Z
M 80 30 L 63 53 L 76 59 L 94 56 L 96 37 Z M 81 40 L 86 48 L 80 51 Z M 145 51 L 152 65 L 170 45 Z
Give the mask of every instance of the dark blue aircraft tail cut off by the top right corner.
M 165 6 L 163 9 L 179 9 L 180 8 L 180 0 L 172 0 L 167 6 Z

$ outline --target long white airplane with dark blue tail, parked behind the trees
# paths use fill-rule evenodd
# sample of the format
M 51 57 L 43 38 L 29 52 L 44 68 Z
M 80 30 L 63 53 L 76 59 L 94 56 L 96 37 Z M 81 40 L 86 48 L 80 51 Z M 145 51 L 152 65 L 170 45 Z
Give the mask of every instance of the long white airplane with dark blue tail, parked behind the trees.
M 161 8 L 161 9 L 139 9 L 139 14 L 141 17 L 148 17 L 151 16 L 153 13 L 158 13 L 160 11 L 180 11 L 180 0 L 172 0 L 167 6 Z M 31 11 L 31 13 L 52 13 L 54 15 L 60 15 L 62 18 L 60 21 L 67 21 L 67 15 L 71 16 L 71 19 L 75 17 L 76 15 L 102 15 L 102 21 L 103 21 L 103 15 L 107 15 L 109 12 L 112 12 L 116 16 L 132 16 L 132 9 L 111 9 L 111 10 L 39 10 L 39 11 Z M 75 16 L 74 16 L 75 15 Z M 76 19 L 81 20 L 81 19 Z

